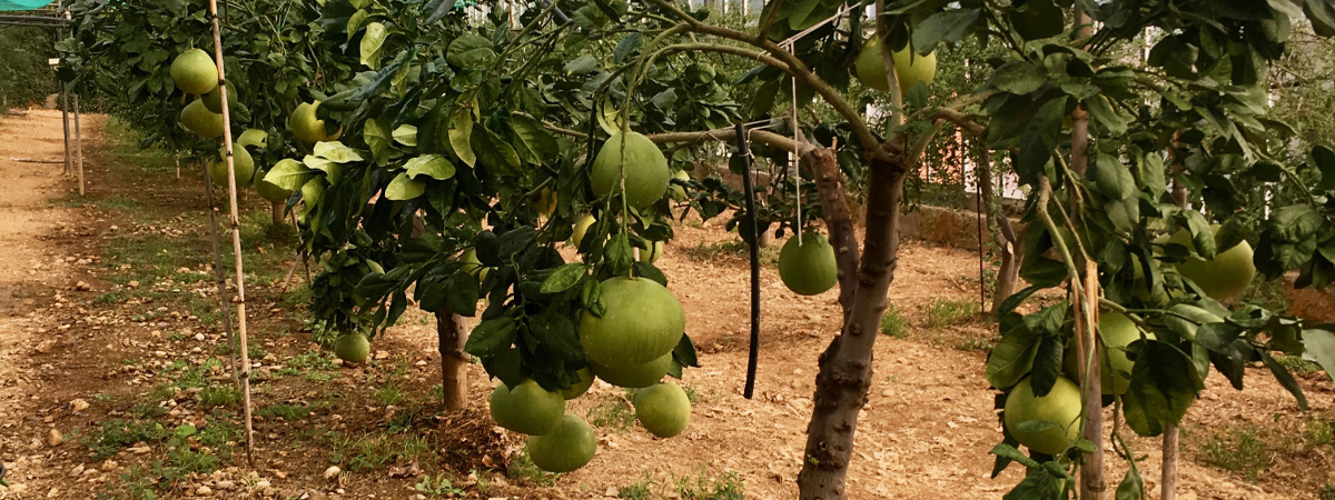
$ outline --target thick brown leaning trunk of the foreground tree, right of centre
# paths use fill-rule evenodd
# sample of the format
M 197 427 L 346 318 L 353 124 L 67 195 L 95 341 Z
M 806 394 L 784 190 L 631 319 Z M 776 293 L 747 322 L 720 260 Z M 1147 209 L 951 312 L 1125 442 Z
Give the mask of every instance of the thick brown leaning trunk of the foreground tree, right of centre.
M 833 164 L 833 152 L 816 151 L 816 161 Z M 825 167 L 825 165 L 822 165 Z M 820 372 L 816 375 L 814 411 L 806 427 L 806 451 L 802 471 L 797 476 L 798 497 L 802 500 L 846 499 L 848 464 L 853 453 L 853 433 L 857 416 L 866 404 L 872 384 L 872 347 L 876 343 L 885 295 L 894 279 L 898 253 L 900 200 L 904 195 L 905 168 L 902 157 L 873 157 L 870 164 L 866 201 L 865 253 L 856 279 L 846 268 L 856 248 L 849 228 L 842 221 L 829 220 L 830 240 L 834 243 L 840 264 L 842 296 L 850 299 L 845 312 L 844 329 L 821 353 Z M 884 188 L 881 188 L 884 187 Z M 821 185 L 822 201 L 828 185 Z M 830 213 L 826 213 L 830 216 Z

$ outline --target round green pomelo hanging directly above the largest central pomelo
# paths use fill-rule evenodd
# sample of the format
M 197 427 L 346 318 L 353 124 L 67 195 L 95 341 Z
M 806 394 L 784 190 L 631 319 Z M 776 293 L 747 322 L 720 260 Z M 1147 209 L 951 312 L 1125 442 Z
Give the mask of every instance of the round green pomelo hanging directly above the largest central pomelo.
M 621 192 L 621 135 L 613 135 L 598 149 L 589 172 L 589 183 L 598 197 L 615 191 Z M 639 132 L 626 135 L 626 204 L 645 208 L 663 197 L 672 171 L 668 157 L 649 137 Z

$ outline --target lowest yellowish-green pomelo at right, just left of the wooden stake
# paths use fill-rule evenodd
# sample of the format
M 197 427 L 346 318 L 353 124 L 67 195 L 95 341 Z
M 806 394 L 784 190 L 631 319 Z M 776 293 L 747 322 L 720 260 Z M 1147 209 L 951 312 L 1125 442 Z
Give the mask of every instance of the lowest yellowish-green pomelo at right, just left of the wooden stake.
M 1037 420 L 1051 421 L 1039 432 L 1024 432 L 1020 423 Z M 1075 444 L 1080 437 L 1083 416 L 1080 415 L 1080 387 L 1067 377 L 1057 377 L 1047 396 L 1035 397 L 1029 377 L 1024 377 L 1005 400 L 1005 428 L 1020 444 L 1029 449 L 1057 455 Z

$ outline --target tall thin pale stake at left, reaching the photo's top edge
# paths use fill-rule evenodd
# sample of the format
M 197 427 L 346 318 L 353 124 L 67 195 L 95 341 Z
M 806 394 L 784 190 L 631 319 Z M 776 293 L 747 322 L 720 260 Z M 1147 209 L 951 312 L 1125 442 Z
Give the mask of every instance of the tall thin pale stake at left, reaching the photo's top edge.
M 246 419 L 246 459 L 254 460 L 255 429 L 251 425 L 250 408 L 250 353 L 246 340 L 246 272 L 242 263 L 242 224 L 238 213 L 236 165 L 232 161 L 232 124 L 227 105 L 227 75 L 223 68 L 223 35 L 218 27 L 218 0 L 208 0 L 208 13 L 214 24 L 214 61 L 218 63 L 218 95 L 223 105 L 223 148 L 227 152 L 227 197 L 231 203 L 232 255 L 236 257 L 236 333 L 240 340 L 242 357 L 242 415 Z

